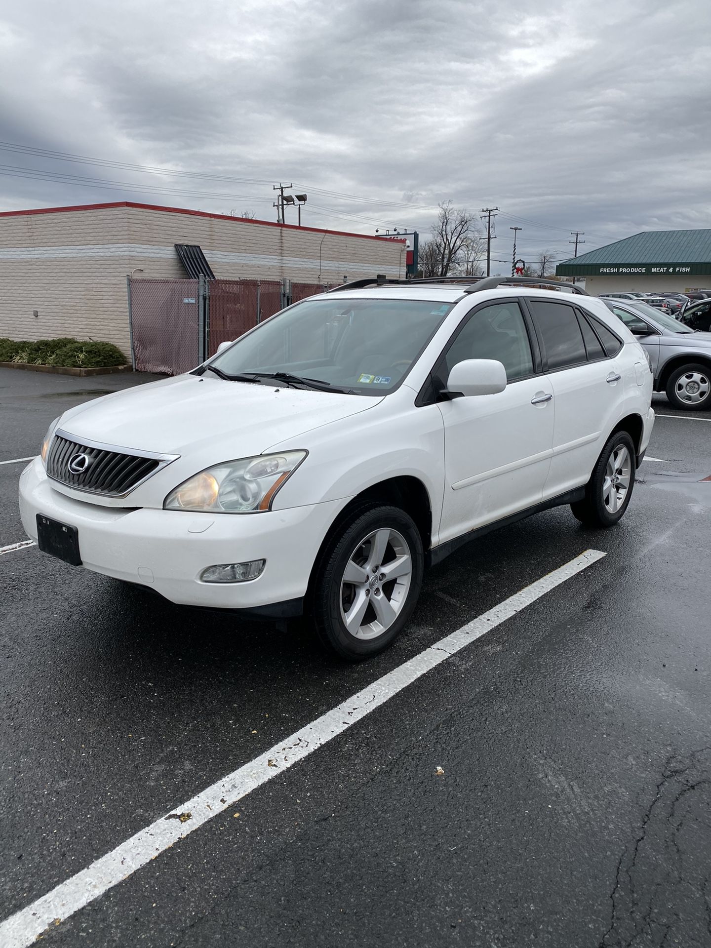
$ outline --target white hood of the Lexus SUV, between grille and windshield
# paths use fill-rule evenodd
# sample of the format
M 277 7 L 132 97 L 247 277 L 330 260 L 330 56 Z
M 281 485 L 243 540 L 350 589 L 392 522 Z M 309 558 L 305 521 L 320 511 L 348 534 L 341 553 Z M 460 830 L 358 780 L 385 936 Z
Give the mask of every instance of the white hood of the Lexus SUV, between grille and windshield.
M 160 454 L 214 446 L 219 460 L 262 454 L 373 408 L 382 399 L 178 375 L 113 392 L 64 412 L 60 428 L 78 440 Z

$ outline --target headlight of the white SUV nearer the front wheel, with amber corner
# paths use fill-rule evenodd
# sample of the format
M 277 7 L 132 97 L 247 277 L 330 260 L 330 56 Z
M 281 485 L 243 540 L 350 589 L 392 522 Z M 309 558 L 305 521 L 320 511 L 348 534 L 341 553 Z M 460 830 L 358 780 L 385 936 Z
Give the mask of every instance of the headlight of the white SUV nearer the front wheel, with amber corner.
M 307 453 L 262 454 L 209 467 L 171 491 L 163 506 L 167 510 L 200 510 L 211 514 L 256 514 L 271 510 L 277 491 Z

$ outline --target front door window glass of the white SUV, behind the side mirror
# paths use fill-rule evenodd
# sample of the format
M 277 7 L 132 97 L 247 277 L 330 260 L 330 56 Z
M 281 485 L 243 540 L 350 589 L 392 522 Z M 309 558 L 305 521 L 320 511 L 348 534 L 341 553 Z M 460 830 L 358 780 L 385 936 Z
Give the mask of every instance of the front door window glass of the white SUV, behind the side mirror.
M 447 350 L 447 375 L 467 358 L 497 359 L 509 382 L 533 374 L 531 343 L 516 301 L 483 306 L 471 315 Z

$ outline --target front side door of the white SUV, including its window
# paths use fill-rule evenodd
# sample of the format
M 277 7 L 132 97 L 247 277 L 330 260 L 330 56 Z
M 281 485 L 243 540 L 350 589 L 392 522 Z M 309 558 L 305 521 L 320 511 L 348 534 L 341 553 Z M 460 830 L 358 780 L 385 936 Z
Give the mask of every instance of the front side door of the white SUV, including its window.
M 469 358 L 498 359 L 507 385 L 498 394 L 439 404 L 446 474 L 441 542 L 538 503 L 552 453 L 553 389 L 538 371 L 538 349 L 518 301 L 474 309 L 435 375 L 446 383 L 452 367 Z

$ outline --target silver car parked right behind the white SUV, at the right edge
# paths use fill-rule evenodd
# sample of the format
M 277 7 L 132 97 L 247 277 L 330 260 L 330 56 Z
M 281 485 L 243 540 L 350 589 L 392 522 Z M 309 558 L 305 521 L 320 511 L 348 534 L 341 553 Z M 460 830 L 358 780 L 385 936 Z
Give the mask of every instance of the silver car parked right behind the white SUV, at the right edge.
M 694 332 L 647 301 L 606 300 L 614 315 L 644 346 L 654 391 L 677 409 L 711 408 L 711 333 Z

